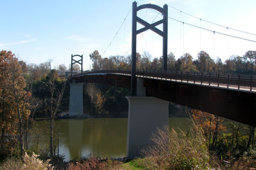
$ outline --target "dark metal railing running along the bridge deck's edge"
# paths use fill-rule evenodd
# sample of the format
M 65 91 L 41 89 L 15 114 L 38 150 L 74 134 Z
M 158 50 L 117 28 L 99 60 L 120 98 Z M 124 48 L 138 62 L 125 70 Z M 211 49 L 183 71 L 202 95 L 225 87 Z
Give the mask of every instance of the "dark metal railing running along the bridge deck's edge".
M 83 74 L 131 74 L 131 70 L 93 70 Z M 82 75 L 83 75 L 82 74 Z M 81 74 L 80 74 L 81 75 Z M 256 75 L 245 74 L 220 74 L 220 73 L 200 73 L 187 71 L 159 71 L 159 70 L 141 70 L 136 71 L 139 77 L 166 79 L 172 81 L 189 82 L 196 84 L 207 84 L 227 88 L 243 88 L 256 90 Z

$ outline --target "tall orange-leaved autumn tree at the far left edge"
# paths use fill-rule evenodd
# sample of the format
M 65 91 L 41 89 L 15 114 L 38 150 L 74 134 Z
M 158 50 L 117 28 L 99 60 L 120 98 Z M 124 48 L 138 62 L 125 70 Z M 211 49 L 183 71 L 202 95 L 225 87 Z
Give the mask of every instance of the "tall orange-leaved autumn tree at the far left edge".
M 23 65 L 24 67 L 24 65 Z M 30 112 L 27 109 L 27 98 L 30 93 L 25 90 L 26 81 L 23 77 L 23 68 L 12 52 L 0 52 L 0 91 L 1 91 L 1 153 L 12 151 L 10 142 L 15 142 L 19 124 L 20 154 L 24 155 L 23 124 Z M 7 139 L 7 138 L 11 138 Z

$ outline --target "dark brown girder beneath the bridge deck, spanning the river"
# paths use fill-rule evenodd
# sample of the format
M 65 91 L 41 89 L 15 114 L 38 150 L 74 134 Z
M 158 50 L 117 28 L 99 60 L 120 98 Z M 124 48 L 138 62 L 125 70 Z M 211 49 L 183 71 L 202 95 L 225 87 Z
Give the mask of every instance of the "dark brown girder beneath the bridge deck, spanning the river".
M 76 82 L 109 84 L 130 89 L 131 77 L 93 74 L 72 78 Z M 253 92 L 197 85 L 179 81 L 143 78 L 146 96 L 164 99 L 230 120 L 256 126 L 256 94 Z

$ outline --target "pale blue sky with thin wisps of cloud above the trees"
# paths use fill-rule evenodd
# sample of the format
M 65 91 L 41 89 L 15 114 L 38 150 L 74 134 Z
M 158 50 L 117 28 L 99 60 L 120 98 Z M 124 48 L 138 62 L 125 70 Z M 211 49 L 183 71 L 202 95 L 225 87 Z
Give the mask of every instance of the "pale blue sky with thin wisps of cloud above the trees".
M 49 59 L 53 64 L 69 65 L 71 54 L 83 54 L 84 69 L 90 67 L 89 54 L 99 50 L 103 57 L 130 54 L 131 12 L 117 33 L 133 0 L 117 1 L 0 1 L 0 50 L 11 50 L 19 60 L 27 63 L 42 63 Z M 182 12 L 195 15 L 225 27 L 256 33 L 255 0 L 155 0 L 137 1 L 140 4 L 164 4 Z M 203 22 L 169 7 L 171 18 L 229 35 L 256 40 L 247 35 Z M 151 23 L 162 18 L 151 10 L 141 10 L 138 15 Z M 138 29 L 141 26 L 138 24 Z M 159 25 L 159 29 L 162 26 Z M 247 50 L 256 50 L 256 43 L 214 34 L 189 25 L 168 20 L 168 53 L 176 59 L 183 53 L 194 59 L 200 50 L 212 58 L 220 57 L 225 62 L 231 55 L 244 55 Z M 153 57 L 162 55 L 162 38 L 146 31 L 137 36 L 137 52 L 148 51 Z M 106 50 L 106 53 L 104 53 Z

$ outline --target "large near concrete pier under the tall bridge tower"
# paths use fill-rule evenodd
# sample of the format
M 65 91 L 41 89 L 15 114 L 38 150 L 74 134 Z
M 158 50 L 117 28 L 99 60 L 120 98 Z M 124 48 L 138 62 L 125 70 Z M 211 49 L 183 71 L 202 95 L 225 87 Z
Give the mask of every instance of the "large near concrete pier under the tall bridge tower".
M 140 150 L 152 145 L 156 128 L 168 125 L 169 101 L 155 97 L 126 96 L 129 101 L 126 156 L 140 156 Z

